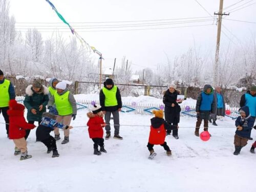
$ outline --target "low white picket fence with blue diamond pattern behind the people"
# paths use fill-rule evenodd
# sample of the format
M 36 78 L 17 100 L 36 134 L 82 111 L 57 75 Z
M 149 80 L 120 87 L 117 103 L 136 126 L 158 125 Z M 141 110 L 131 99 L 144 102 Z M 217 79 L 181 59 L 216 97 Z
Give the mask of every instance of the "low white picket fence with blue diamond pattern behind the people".
M 25 99 L 25 97 L 23 96 L 18 96 L 16 97 L 16 100 L 17 101 L 20 101 L 20 102 L 23 102 L 23 100 Z M 81 104 L 83 106 L 86 106 L 86 110 L 88 111 L 91 111 L 92 110 L 92 102 L 95 102 L 96 104 L 99 104 L 99 100 L 84 100 L 84 99 L 78 99 L 76 100 L 76 102 L 78 104 Z M 77 105 L 78 108 L 81 108 L 82 109 L 82 106 L 81 105 Z M 144 102 L 139 102 L 139 103 L 134 103 L 134 102 L 122 102 L 122 105 L 123 106 L 127 106 L 129 108 L 133 108 L 135 109 L 134 111 L 132 112 L 129 112 L 129 113 L 139 113 L 139 114 L 149 114 L 148 112 L 145 112 L 144 110 L 145 109 L 149 109 L 149 108 L 157 108 L 157 109 L 160 109 L 160 105 L 164 105 L 163 103 L 159 102 L 159 103 L 144 103 Z M 181 111 L 186 111 L 185 108 L 186 108 L 187 105 L 180 105 L 181 107 Z M 190 110 L 195 110 L 196 109 L 196 106 L 189 106 Z M 125 109 L 125 108 L 122 108 L 123 111 L 126 111 L 126 110 L 129 110 L 129 109 Z M 228 108 L 226 110 L 229 110 L 231 112 L 231 115 L 232 116 L 238 116 L 237 113 L 235 112 L 238 112 L 238 108 Z M 183 114 L 181 114 L 183 115 Z

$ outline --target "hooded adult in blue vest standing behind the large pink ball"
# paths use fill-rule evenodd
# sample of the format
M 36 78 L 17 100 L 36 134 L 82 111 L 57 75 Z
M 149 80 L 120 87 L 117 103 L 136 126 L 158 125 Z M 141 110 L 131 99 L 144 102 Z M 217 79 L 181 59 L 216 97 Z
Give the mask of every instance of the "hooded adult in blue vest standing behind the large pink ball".
M 209 116 L 215 113 L 214 89 L 209 84 L 205 84 L 203 91 L 198 95 L 196 112 L 197 123 L 195 135 L 199 136 L 199 128 L 202 120 L 204 120 L 204 131 L 208 131 Z

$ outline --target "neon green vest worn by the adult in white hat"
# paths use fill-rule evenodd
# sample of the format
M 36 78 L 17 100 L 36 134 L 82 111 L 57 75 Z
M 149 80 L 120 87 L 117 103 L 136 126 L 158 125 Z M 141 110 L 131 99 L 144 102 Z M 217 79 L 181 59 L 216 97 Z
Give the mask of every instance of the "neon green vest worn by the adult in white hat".
M 56 109 L 61 116 L 73 114 L 73 108 L 69 102 L 69 93 L 70 91 L 67 91 L 65 94 L 59 95 L 55 92 L 53 95 Z

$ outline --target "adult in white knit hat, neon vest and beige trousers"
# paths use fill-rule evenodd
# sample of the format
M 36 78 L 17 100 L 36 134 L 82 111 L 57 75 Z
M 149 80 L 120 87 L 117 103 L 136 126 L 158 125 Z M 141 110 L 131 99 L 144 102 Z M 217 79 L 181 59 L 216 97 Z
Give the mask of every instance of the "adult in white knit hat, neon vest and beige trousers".
M 56 109 L 58 111 L 58 116 L 56 120 L 62 124 L 70 125 L 71 119 L 73 117 L 73 120 L 76 118 L 76 100 L 74 98 L 74 95 L 70 93 L 70 91 L 67 89 L 67 83 L 66 82 L 58 82 L 56 84 L 56 90 L 53 94 L 53 97 L 50 98 L 48 103 L 48 109 L 51 110 L 53 105 L 56 105 Z M 54 129 L 55 139 L 59 140 L 59 129 Z M 61 142 L 61 144 L 66 144 L 69 142 L 69 129 L 64 130 L 64 140 Z

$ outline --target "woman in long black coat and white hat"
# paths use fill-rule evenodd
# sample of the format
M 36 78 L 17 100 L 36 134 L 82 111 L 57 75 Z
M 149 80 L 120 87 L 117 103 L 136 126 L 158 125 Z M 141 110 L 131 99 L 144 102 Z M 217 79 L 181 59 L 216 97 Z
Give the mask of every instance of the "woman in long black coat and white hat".
M 173 136 L 175 139 L 179 139 L 178 136 L 178 123 L 180 122 L 180 105 L 177 103 L 177 96 L 180 94 L 179 90 L 176 90 L 175 84 L 170 84 L 169 89 L 165 91 L 163 96 L 164 117 L 170 125 L 176 125 L 177 129 L 173 130 Z M 181 103 L 181 102 L 179 102 Z M 167 131 L 166 135 L 170 135 L 171 131 Z

